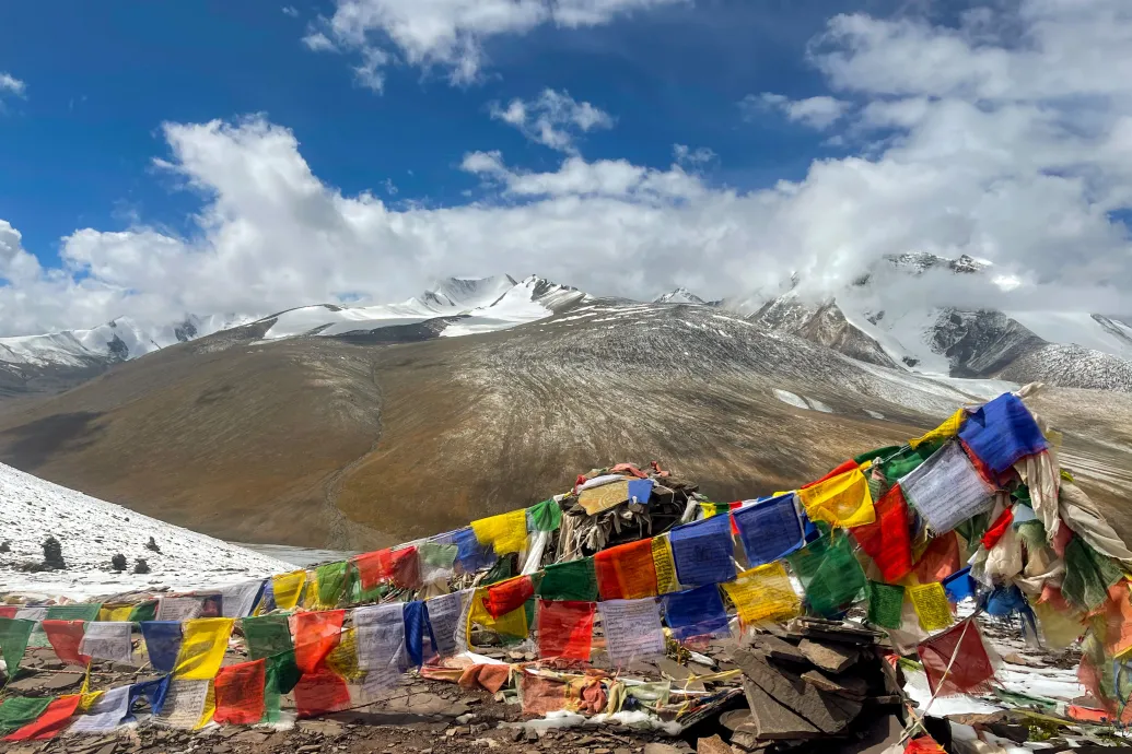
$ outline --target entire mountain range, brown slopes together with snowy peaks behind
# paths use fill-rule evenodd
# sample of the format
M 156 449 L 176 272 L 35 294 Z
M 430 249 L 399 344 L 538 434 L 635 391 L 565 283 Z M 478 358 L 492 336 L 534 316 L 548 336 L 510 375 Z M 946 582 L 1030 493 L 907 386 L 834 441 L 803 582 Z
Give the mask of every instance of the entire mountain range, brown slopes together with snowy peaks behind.
M 752 305 L 499 276 L 401 304 L 198 319 L 160 348 L 119 335 L 127 350 L 102 353 L 113 338 L 87 338 L 94 376 L 0 400 L 0 461 L 229 540 L 366 549 L 532 504 L 625 460 L 658 460 L 715 500 L 789 488 L 1050 374 L 1031 405 L 1063 432 L 1063 463 L 1132 531 L 1125 359 L 1056 344 L 1072 357 L 1056 373 L 1049 344 L 1013 317 L 977 311 L 971 326 L 962 312 L 955 324 L 850 306 L 868 285 L 808 303 L 798 280 Z M 877 324 L 901 319 L 931 327 L 904 338 Z M 953 332 L 962 348 L 937 343 Z M 1108 389 L 1077 387 L 1091 358 Z M 74 369 L 37 365 L 55 366 Z

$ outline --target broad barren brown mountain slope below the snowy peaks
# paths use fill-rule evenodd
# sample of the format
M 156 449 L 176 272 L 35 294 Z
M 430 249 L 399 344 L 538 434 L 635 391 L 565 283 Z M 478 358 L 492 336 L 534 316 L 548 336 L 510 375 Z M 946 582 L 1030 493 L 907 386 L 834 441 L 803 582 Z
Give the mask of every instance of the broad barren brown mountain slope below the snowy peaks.
M 224 338 L 0 419 L 0 460 L 214 536 L 366 548 L 531 504 L 614 460 L 658 459 L 717 500 L 796 486 L 1009 387 L 671 304 L 591 302 L 393 345 Z M 1132 398 L 1043 401 L 1084 486 L 1126 509 Z

